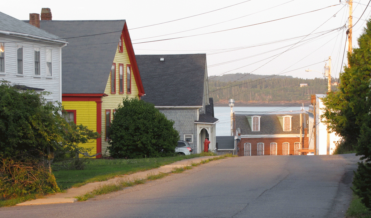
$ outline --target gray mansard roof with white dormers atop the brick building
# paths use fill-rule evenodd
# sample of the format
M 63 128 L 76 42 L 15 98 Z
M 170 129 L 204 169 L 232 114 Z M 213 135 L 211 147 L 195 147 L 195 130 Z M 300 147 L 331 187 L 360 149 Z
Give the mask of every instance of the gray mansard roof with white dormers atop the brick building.
M 240 128 L 241 135 L 276 135 L 276 134 L 299 134 L 301 111 L 279 112 L 235 112 L 236 129 Z M 308 120 L 308 113 L 304 113 Z M 246 116 L 259 115 L 260 131 L 251 131 L 249 120 Z M 283 131 L 278 116 L 292 116 L 291 131 Z M 303 118 L 304 119 L 304 118 Z

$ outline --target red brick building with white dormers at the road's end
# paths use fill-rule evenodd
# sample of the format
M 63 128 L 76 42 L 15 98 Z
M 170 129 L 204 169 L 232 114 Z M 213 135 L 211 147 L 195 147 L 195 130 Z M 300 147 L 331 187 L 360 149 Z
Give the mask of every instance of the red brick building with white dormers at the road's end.
M 234 112 L 239 156 L 299 155 L 308 151 L 305 111 Z M 236 131 L 234 131 L 236 132 Z

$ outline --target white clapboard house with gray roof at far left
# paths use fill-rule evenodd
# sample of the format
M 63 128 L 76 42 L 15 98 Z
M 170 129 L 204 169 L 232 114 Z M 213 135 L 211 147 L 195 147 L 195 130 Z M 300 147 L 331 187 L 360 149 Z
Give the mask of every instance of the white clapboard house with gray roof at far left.
M 0 80 L 50 92 L 48 102 L 62 102 L 61 49 L 67 41 L 1 12 L 0 20 Z

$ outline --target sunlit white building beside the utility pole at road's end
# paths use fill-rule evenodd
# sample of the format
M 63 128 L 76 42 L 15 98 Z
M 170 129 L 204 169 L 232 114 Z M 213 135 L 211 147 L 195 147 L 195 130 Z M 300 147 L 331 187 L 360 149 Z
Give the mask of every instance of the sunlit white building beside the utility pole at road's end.
M 314 141 L 316 141 L 316 153 L 318 155 L 329 155 L 333 154 L 336 148 L 336 142 L 340 141 L 341 137 L 336 135 L 335 132 L 329 133 L 327 131 L 327 125 L 321 119 L 321 115 L 324 114 L 324 104 L 322 98 L 326 94 L 316 94 L 316 122 L 313 118 L 313 104 L 309 105 L 309 121 L 308 121 L 308 134 L 309 134 L 309 148 L 314 147 Z M 316 125 L 316 137 L 314 137 L 313 126 Z M 315 140 L 316 138 L 316 140 Z

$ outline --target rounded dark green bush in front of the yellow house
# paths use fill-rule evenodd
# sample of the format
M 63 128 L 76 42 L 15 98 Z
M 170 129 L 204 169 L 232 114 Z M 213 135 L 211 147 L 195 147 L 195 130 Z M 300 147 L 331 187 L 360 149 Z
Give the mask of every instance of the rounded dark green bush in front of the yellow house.
M 109 128 L 109 153 L 114 158 L 152 158 L 175 153 L 179 133 L 153 104 L 123 99 Z

